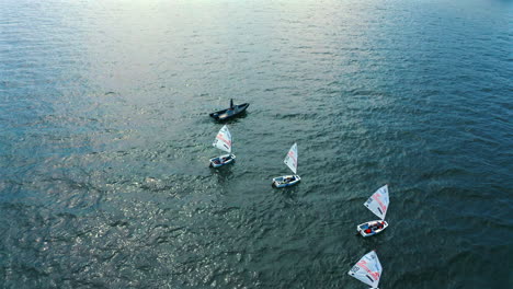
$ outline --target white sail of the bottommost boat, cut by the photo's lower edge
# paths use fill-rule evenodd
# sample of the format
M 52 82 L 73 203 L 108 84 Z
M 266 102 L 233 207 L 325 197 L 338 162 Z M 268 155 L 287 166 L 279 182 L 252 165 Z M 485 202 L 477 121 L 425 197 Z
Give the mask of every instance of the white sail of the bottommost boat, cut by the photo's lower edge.
M 372 251 L 363 256 L 349 271 L 349 275 L 362 282 L 377 288 L 381 277 L 383 267 L 376 252 Z

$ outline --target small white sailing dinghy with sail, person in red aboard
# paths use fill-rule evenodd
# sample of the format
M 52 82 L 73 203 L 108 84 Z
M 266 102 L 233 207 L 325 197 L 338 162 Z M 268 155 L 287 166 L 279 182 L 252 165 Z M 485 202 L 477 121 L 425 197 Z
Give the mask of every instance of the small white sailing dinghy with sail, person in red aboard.
M 381 220 L 376 221 L 368 221 L 356 227 L 356 230 L 363 236 L 375 235 L 377 233 L 383 232 L 383 230 L 387 229 L 388 223 L 385 221 L 385 215 L 387 213 L 388 209 L 388 185 L 384 185 L 383 187 L 378 188 L 376 193 L 374 193 L 367 201 L 365 201 L 364 206 L 367 207 L 374 215 L 379 217 Z

